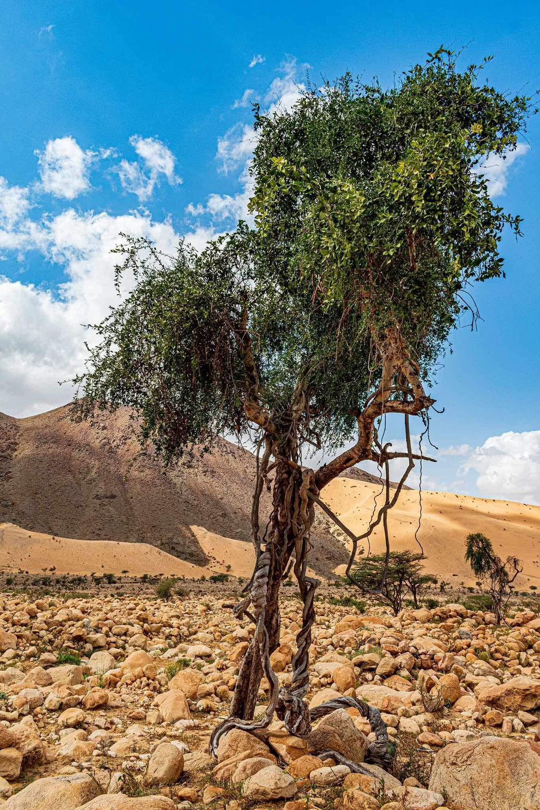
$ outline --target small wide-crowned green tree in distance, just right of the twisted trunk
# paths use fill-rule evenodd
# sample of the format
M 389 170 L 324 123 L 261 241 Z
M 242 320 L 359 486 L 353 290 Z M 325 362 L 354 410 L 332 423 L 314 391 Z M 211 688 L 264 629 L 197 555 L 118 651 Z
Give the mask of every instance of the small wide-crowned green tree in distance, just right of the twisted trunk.
M 376 593 L 391 606 L 394 615 L 401 611 L 407 591 L 413 597 L 414 607 L 427 587 L 437 580 L 422 573 L 421 553 L 410 551 L 372 554 L 362 560 L 354 570 L 354 581 L 364 593 Z

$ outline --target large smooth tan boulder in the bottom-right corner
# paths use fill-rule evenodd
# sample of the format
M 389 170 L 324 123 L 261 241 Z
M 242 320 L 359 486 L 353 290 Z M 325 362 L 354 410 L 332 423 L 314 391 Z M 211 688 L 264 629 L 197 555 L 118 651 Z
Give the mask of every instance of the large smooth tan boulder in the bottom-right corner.
M 525 740 L 480 737 L 435 756 L 430 790 L 463 810 L 538 810 L 540 757 Z

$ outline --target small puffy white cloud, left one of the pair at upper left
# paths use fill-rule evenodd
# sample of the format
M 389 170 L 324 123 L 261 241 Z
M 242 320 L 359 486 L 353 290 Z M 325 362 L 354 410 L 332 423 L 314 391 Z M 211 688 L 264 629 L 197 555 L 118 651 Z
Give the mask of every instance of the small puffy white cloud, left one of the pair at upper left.
M 36 151 L 38 156 L 41 189 L 68 200 L 88 191 L 88 174 L 96 153 L 84 151 L 75 138 L 56 138 L 45 144 L 44 151 Z

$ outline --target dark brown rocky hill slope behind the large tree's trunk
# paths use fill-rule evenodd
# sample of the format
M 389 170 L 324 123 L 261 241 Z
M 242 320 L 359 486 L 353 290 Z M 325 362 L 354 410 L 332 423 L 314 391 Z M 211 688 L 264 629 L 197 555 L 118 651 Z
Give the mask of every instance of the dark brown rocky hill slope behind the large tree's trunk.
M 21 420 L 0 415 L 0 522 L 28 531 L 149 543 L 204 566 L 202 531 L 250 541 L 254 477 L 254 456 L 225 440 L 164 470 L 151 450 L 140 451 L 128 411 L 99 414 L 96 424 L 72 421 L 68 406 Z M 322 526 L 313 539 L 320 573 L 345 560 Z

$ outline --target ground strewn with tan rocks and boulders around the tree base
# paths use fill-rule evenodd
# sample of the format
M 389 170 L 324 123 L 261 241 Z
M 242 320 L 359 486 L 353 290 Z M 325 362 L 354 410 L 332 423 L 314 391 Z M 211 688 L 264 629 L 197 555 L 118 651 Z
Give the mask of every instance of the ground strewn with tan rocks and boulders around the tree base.
M 285 589 L 288 590 L 288 589 Z M 291 591 L 293 589 L 290 589 Z M 318 600 L 311 706 L 376 706 L 392 774 L 355 774 L 370 727 L 337 710 L 306 739 L 278 721 L 255 738 L 212 728 L 229 712 L 253 631 L 232 595 L 170 601 L 0 595 L 0 804 L 6 810 L 538 810 L 540 618 L 508 625 L 459 603 L 390 616 Z M 272 663 L 290 680 L 300 603 L 285 595 Z M 268 684 L 263 684 L 268 686 Z M 261 711 L 267 693 L 259 695 Z

